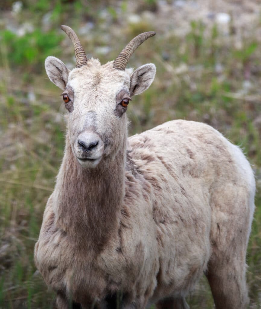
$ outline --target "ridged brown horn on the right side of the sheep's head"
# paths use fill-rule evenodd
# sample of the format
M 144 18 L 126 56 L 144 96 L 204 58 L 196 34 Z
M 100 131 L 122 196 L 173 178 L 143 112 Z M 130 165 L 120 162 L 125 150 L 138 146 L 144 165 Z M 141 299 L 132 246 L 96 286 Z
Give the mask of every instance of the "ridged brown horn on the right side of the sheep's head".
M 119 53 L 118 57 L 113 61 L 113 67 L 118 70 L 124 71 L 130 57 L 145 40 L 154 36 L 154 31 L 143 32 L 132 39 L 129 44 Z

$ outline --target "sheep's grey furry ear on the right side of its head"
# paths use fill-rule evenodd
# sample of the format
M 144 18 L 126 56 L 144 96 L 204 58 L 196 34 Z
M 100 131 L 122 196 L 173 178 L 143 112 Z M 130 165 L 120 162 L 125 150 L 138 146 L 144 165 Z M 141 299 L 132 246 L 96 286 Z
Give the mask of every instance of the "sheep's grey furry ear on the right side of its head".
M 156 74 L 156 66 L 148 63 L 140 66 L 131 74 L 130 78 L 130 95 L 139 95 L 149 88 Z

